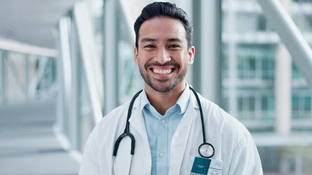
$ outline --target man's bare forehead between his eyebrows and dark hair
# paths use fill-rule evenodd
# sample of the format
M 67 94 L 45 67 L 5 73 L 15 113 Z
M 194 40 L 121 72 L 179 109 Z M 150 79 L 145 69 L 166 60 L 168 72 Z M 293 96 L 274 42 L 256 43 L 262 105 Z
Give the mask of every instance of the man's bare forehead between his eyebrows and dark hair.
M 177 19 L 156 17 L 143 22 L 139 30 L 139 40 L 142 38 L 179 38 L 186 42 L 186 30 Z

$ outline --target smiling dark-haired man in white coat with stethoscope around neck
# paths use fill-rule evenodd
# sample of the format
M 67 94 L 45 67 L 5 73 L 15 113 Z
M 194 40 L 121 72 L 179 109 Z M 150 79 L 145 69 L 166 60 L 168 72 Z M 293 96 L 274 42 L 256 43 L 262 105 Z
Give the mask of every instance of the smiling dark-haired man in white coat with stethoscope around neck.
M 175 4 L 154 2 L 143 9 L 134 30 L 134 61 L 145 80 L 144 89 L 132 107 L 129 102 L 121 105 L 96 125 L 87 141 L 79 174 L 199 175 L 196 171 L 205 169 L 202 174 L 206 175 L 209 171 L 262 175 L 248 130 L 200 96 L 206 139 L 214 147 L 211 160 L 201 157 L 199 146 L 205 137 L 200 107 L 185 80 L 195 54 L 192 24 L 186 13 Z M 130 155 L 130 137 L 124 137 L 114 157 L 115 142 L 124 133 L 129 106 L 134 155 Z

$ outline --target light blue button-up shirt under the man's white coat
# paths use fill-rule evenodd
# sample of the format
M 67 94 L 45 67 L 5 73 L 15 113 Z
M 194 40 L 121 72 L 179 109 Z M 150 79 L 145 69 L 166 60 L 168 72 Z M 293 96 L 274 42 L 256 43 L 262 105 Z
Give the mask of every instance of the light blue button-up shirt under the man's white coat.
M 149 103 L 145 90 L 142 91 L 141 111 L 152 157 L 151 175 L 169 174 L 171 140 L 189 104 L 189 94 L 187 85 L 177 103 L 162 116 Z

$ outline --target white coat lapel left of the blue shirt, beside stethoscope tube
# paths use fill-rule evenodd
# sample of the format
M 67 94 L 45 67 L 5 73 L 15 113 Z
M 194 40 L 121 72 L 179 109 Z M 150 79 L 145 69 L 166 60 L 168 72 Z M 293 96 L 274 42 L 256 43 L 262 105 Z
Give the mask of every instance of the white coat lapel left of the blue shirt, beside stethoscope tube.
M 141 102 L 141 94 L 135 100 L 133 107 L 132 107 L 132 115 L 129 119 L 130 132 L 131 132 L 131 129 L 135 129 L 142 136 L 142 138 L 146 141 L 147 145 L 149 145 L 144 118 L 140 110 L 140 105 L 141 105 L 140 102 Z

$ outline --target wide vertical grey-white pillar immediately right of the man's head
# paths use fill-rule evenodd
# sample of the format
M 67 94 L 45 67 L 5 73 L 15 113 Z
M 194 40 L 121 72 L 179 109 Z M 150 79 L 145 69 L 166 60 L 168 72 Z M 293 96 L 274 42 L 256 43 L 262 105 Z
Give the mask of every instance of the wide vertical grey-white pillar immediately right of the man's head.
M 220 105 L 221 89 L 221 1 L 193 0 L 194 46 L 193 87 Z

